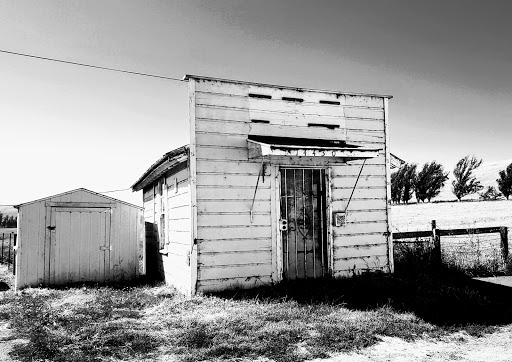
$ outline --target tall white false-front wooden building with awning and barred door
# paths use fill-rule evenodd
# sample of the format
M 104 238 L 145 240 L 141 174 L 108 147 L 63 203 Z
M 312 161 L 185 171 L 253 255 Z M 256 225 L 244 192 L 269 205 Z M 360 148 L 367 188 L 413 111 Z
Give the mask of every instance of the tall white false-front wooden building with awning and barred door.
M 185 293 L 393 270 L 390 96 L 185 80 L 189 143 L 132 186 L 148 270 Z

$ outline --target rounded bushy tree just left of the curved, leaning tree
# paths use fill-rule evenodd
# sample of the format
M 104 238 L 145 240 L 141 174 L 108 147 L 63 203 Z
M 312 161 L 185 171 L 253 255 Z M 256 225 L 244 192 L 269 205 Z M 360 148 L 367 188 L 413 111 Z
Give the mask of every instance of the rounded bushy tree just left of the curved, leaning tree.
M 443 166 L 432 161 L 425 163 L 416 177 L 416 198 L 418 201 L 432 200 L 439 195 L 444 183 L 448 180 L 448 172 L 444 172 Z

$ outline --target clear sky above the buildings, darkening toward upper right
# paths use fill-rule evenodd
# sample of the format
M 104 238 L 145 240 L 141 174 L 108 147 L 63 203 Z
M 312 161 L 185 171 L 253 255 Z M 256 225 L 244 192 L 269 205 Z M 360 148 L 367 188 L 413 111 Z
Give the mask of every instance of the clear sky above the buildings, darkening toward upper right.
M 390 94 L 391 152 L 511 159 L 506 0 L 0 0 L 0 50 Z M 188 143 L 187 84 L 0 53 L 0 205 L 129 188 Z M 142 204 L 140 193 L 108 193 Z

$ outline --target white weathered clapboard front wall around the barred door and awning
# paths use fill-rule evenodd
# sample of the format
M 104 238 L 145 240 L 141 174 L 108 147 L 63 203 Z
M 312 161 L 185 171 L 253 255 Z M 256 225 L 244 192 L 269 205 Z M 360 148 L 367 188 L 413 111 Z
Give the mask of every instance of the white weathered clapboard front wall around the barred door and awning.
M 387 100 L 204 79 L 192 79 L 189 89 L 191 121 L 195 123 L 191 150 L 196 156 L 199 291 L 279 280 L 276 164 L 330 167 L 331 212 L 344 210 L 362 164 L 344 164 L 327 157 L 273 158 L 264 181 L 260 179 L 251 223 L 249 210 L 261 161 L 248 159 L 249 134 L 339 139 L 381 148 L 379 157 L 366 162 L 348 209 L 347 224 L 332 227 L 330 267 L 334 275 L 389 268 Z M 250 93 L 272 99 L 252 98 Z

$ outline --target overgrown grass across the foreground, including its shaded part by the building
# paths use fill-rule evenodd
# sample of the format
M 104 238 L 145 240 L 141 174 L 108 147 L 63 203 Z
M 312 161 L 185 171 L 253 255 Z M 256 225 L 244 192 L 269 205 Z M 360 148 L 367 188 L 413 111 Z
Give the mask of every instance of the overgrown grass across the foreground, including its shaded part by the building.
M 162 286 L 6 292 L 0 319 L 29 339 L 12 352 L 22 361 L 304 361 L 382 336 L 479 336 L 512 322 L 510 296 L 419 256 L 425 263 L 405 258 L 394 276 L 294 281 L 191 299 Z

